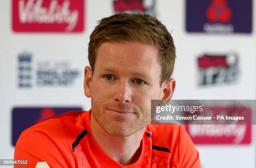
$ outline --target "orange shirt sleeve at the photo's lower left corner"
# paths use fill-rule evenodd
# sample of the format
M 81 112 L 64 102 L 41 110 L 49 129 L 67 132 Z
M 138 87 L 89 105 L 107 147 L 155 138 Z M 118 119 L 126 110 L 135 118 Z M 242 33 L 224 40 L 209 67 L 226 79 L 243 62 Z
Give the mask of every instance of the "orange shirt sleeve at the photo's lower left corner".
M 69 168 L 67 150 L 57 145 L 52 137 L 42 131 L 23 132 L 15 145 L 14 159 L 28 160 L 28 165 L 14 165 L 14 168 L 36 167 L 46 162 L 50 168 Z M 39 166 L 40 167 L 40 166 Z

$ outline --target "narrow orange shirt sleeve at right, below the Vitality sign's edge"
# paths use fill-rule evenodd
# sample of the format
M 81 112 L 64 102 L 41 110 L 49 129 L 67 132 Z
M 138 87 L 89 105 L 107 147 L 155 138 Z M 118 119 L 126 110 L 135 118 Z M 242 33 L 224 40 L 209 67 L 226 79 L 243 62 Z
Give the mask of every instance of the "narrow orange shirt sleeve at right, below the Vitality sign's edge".
M 202 168 L 199 153 L 189 137 L 184 125 L 179 126 L 179 167 Z

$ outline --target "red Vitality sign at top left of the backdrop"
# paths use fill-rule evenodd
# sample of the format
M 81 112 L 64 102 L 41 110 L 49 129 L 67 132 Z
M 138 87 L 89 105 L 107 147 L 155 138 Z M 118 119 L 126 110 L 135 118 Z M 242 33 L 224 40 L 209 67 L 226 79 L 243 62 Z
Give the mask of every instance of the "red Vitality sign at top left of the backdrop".
M 15 32 L 82 32 L 84 0 L 13 0 Z

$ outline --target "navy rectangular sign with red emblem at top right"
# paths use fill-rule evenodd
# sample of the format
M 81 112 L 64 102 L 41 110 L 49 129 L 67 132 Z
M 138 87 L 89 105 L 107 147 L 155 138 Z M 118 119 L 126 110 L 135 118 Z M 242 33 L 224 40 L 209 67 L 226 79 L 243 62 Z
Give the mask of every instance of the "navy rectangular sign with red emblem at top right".
M 186 0 L 188 32 L 251 33 L 252 0 Z

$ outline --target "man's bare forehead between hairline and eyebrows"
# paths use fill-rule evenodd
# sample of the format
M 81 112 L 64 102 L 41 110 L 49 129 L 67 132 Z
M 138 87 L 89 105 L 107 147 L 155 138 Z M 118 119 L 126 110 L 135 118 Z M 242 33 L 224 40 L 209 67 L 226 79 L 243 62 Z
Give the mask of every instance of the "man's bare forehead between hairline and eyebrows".
M 148 73 L 161 71 L 158 50 L 141 42 L 103 42 L 97 51 L 95 70 L 102 67 Z

